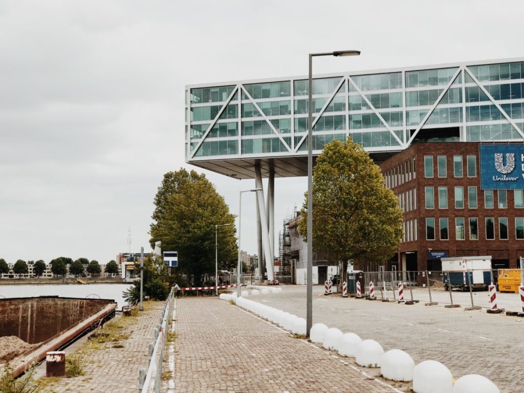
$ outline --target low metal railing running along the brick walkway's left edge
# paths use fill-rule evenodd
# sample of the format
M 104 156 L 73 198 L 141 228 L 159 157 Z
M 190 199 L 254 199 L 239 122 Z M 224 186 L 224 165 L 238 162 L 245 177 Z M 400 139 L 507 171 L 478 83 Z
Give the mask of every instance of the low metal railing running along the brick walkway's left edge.
M 162 318 L 155 328 L 155 342 L 149 343 L 149 367 L 140 369 L 138 390 L 141 393 L 160 393 L 162 382 L 162 362 L 166 348 L 169 320 L 173 313 L 173 288 L 163 307 Z

